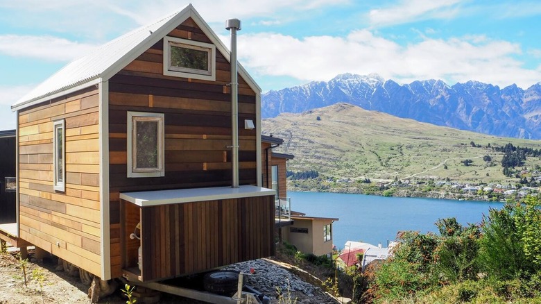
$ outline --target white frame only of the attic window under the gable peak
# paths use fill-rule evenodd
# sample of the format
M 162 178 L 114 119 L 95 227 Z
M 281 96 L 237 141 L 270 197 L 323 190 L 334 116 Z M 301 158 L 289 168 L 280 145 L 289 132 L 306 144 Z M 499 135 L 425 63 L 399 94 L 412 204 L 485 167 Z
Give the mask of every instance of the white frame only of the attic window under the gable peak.
M 185 67 L 171 66 L 171 45 L 185 49 L 207 51 L 209 67 L 206 71 L 189 69 Z M 164 37 L 164 75 L 201 79 L 204 81 L 216 81 L 216 46 L 205 42 L 186 40 L 176 37 Z

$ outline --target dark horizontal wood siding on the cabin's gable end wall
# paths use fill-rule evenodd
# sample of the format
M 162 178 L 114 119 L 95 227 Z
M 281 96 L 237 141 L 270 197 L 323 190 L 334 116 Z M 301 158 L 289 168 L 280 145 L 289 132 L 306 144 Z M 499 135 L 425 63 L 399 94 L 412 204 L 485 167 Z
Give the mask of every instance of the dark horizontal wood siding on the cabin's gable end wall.
M 189 18 L 169 36 L 212 43 Z M 227 186 L 232 183 L 230 64 L 216 49 L 216 81 L 163 75 L 163 39 L 130 62 L 109 81 L 111 274 L 132 264 L 123 258 L 121 238 L 134 224 L 124 219 L 121 236 L 120 192 Z M 165 176 L 127 178 L 127 111 L 160 112 L 165 118 Z M 257 184 L 256 130 L 244 119 L 256 119 L 256 96 L 239 76 L 239 184 Z M 129 204 L 129 203 L 128 203 Z M 123 206 L 123 212 L 126 206 Z M 166 208 L 166 207 L 164 207 Z M 163 208 L 157 208 L 162 210 Z M 129 211 L 129 210 L 128 210 Z M 137 212 L 135 212 L 137 214 Z M 272 223 L 271 223 L 272 225 Z M 160 230 L 161 231 L 161 230 Z M 147 232 L 146 233 L 150 233 Z M 137 254 L 137 247 L 135 247 Z M 136 264 L 137 265 L 137 264 Z

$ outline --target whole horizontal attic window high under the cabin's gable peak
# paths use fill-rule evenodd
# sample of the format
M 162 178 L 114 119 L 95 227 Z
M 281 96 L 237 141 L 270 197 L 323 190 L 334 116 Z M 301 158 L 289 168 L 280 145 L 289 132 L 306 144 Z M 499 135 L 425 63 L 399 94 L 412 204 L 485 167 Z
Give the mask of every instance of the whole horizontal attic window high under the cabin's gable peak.
M 216 80 L 214 44 L 164 37 L 164 75 Z

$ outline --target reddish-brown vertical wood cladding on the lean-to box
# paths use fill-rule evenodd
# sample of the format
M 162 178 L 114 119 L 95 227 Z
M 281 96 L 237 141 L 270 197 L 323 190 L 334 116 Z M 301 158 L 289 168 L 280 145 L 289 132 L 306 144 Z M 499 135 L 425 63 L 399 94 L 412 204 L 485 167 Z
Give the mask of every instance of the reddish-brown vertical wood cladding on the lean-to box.
M 126 201 L 122 204 L 126 210 L 134 208 Z M 143 280 L 172 278 L 275 254 L 273 196 L 140 210 Z M 132 243 L 127 239 L 126 267 L 137 265 L 138 244 Z

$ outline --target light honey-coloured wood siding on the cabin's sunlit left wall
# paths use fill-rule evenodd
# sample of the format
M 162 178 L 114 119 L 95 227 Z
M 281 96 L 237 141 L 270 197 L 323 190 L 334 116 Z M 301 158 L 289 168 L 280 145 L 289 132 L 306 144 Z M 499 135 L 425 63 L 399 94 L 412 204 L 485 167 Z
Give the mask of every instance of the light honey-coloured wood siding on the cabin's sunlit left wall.
M 19 111 L 20 238 L 101 275 L 98 90 Z M 65 119 L 66 191 L 53 189 L 53 121 Z

